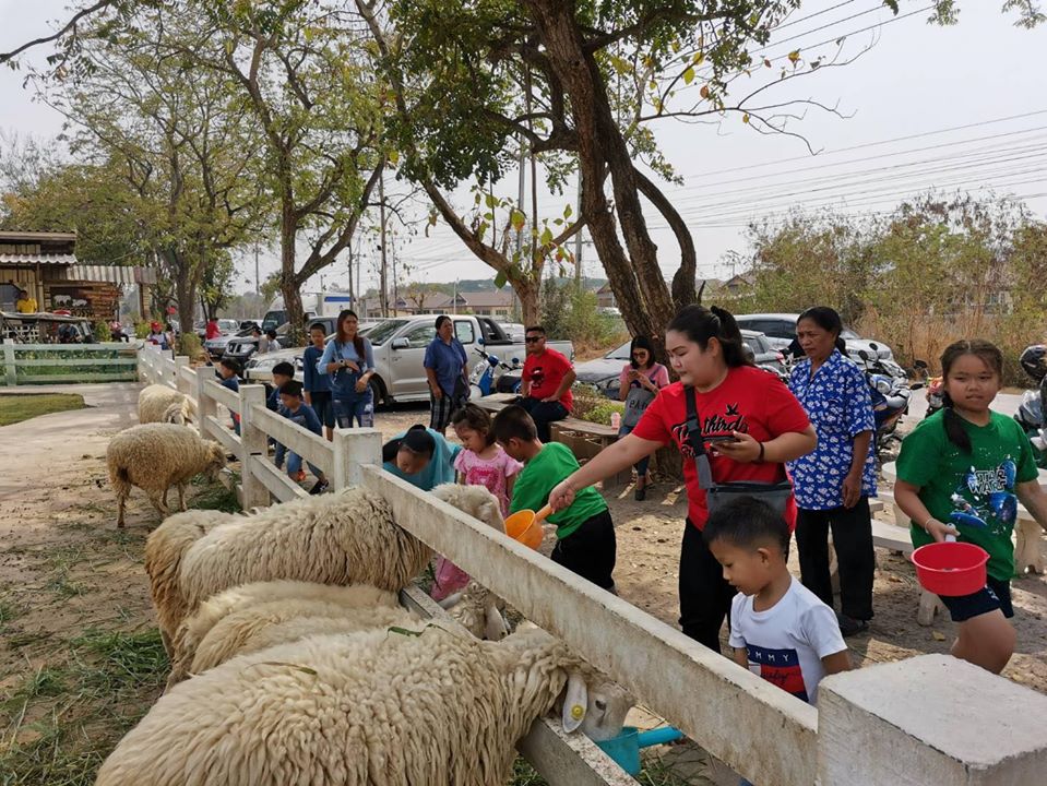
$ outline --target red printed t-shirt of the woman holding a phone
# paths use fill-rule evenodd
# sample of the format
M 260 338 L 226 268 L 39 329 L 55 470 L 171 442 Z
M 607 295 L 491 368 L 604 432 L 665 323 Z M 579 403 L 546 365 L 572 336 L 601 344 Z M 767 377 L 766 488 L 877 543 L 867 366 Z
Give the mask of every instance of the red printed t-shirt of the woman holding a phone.
M 804 431 L 810 425 L 802 405 L 789 389 L 774 374 L 751 366 L 730 369 L 726 379 L 706 393 L 691 393 L 697 396 L 698 419 L 705 437 L 742 431 L 759 442 L 766 442 L 789 431 Z M 676 443 L 683 455 L 688 517 L 699 529 L 704 528 L 709 511 L 705 508 L 705 491 L 698 486 L 694 453 L 687 441 L 683 384 L 674 382 L 663 388 L 632 432 L 654 442 Z M 710 448 L 705 445 L 706 450 Z M 778 483 L 785 479 L 783 464 L 742 464 L 712 451 L 709 460 L 716 483 Z M 786 509 L 786 520 L 792 529 L 796 525 L 796 501 L 793 499 L 789 499 Z

